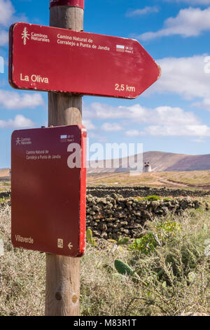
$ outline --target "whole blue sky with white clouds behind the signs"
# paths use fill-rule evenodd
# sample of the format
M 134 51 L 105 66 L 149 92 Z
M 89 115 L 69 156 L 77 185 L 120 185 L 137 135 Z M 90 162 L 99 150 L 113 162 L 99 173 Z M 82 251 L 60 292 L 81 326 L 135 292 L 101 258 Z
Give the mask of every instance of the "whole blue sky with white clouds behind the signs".
M 20 21 L 49 25 L 48 4 L 0 0 L 0 168 L 10 167 L 15 129 L 47 125 L 47 93 L 8 84 L 8 28 Z M 90 143 L 210 154 L 210 0 L 85 0 L 84 30 L 138 39 L 162 67 L 159 81 L 135 100 L 83 97 Z

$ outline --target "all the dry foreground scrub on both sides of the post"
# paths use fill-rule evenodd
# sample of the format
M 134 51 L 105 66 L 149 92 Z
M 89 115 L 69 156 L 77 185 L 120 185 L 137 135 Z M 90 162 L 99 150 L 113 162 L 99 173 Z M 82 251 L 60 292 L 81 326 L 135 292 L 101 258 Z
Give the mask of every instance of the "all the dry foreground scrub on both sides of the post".
M 81 258 L 80 315 L 210 314 L 210 260 L 204 256 L 209 219 L 209 211 L 172 218 L 181 232 L 148 255 L 103 239 L 97 240 L 97 247 L 87 244 Z M 155 232 L 158 223 L 148 223 L 146 232 Z M 0 315 L 44 315 L 45 253 L 13 248 L 9 206 L 0 209 L 0 239 L 5 250 L 0 257 Z M 128 263 L 140 279 L 118 274 L 116 258 Z

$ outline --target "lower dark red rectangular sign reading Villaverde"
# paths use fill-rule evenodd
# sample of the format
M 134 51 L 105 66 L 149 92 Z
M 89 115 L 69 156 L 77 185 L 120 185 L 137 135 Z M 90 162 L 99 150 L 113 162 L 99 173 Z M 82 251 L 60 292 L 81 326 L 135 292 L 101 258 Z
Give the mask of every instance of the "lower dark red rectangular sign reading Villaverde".
M 13 246 L 62 256 L 83 255 L 85 138 L 83 126 L 13 132 Z

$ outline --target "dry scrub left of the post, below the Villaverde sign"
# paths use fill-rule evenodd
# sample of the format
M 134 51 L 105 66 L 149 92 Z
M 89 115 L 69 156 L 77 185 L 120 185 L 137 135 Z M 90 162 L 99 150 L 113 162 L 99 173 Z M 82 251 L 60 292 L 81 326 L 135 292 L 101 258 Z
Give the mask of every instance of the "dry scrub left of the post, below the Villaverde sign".
M 45 253 L 13 248 L 9 206 L 0 210 L 0 239 L 0 315 L 43 315 Z

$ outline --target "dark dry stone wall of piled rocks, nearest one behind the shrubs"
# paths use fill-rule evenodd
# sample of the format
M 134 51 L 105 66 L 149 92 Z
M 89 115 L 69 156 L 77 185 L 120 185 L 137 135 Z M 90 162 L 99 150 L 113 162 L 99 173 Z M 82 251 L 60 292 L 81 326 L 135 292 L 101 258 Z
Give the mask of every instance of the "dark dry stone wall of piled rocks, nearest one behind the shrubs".
M 122 235 L 135 238 L 139 237 L 147 220 L 166 216 L 169 212 L 181 214 L 186 209 L 203 207 L 208 209 L 209 205 L 190 197 L 149 202 L 118 194 L 101 198 L 88 194 L 86 223 L 95 237 L 118 239 Z

